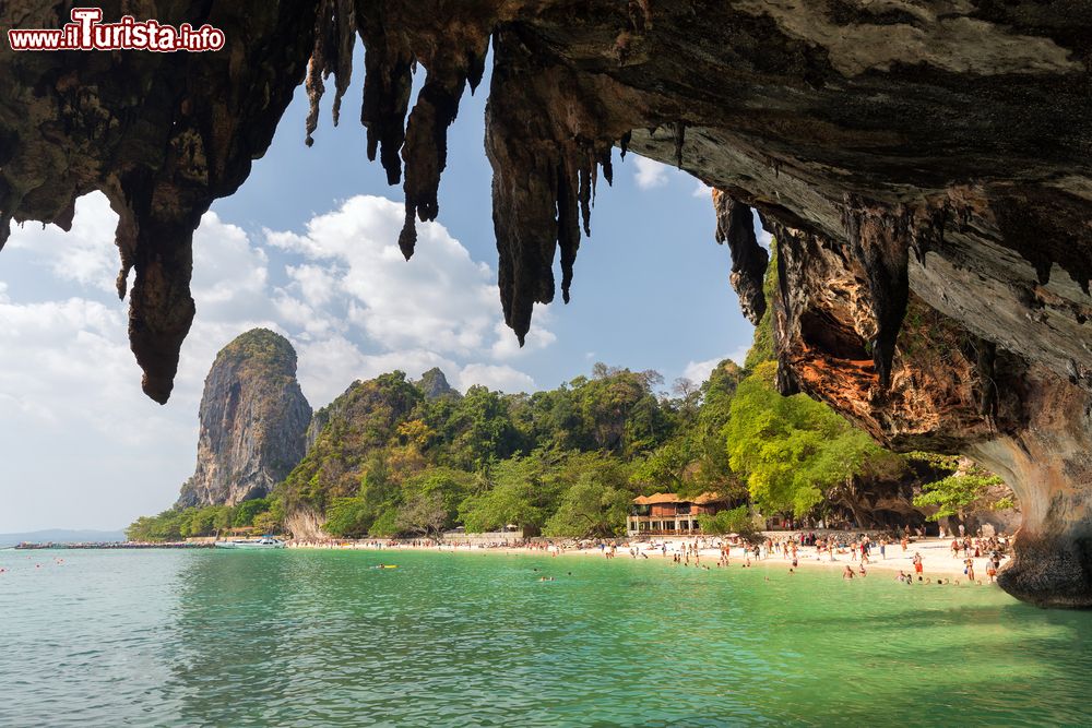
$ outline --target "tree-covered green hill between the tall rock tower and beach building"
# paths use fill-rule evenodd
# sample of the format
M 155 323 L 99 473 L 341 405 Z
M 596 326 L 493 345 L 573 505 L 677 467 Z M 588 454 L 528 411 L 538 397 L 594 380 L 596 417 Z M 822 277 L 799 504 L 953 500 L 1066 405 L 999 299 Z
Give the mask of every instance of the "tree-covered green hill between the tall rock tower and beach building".
M 591 377 L 530 395 L 472 386 L 436 396 L 437 379 L 415 384 L 394 372 L 356 382 L 321 410 L 314 445 L 276 490 L 285 509 L 324 516 L 340 537 L 456 524 L 614 535 L 636 494 L 665 487 L 653 469 L 634 478 L 637 464 L 699 419 L 697 397 L 656 392 L 655 372 L 596 365 Z

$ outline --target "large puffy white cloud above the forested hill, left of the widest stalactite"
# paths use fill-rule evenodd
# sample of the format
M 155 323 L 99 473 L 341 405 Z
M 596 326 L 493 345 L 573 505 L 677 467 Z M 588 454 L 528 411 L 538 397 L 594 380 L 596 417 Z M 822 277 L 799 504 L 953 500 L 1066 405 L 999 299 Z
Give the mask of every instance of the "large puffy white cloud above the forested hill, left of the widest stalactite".
M 297 317 L 347 321 L 392 350 L 513 356 L 510 332 L 497 327 L 492 268 L 435 223 L 418 225 L 417 249 L 406 261 L 396 244 L 403 215 L 400 203 L 360 195 L 312 218 L 302 235 L 266 230 L 270 244 L 308 261 L 288 270 L 281 306 L 295 307 Z M 532 339 L 542 348 L 555 336 L 536 325 Z

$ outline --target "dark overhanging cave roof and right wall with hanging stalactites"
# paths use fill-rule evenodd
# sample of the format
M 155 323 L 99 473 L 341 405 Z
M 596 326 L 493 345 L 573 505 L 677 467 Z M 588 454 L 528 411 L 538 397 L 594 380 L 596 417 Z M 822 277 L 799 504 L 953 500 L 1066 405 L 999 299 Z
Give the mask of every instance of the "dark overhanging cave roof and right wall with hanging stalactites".
M 500 301 L 517 335 L 554 298 L 558 256 L 566 300 L 573 290 L 613 150 L 677 165 L 719 190 L 717 237 L 745 311 L 774 307 L 782 387 L 824 398 L 892 446 L 960 451 L 1002 474 L 1025 514 L 1005 588 L 1092 606 L 1087 1 L 103 8 L 106 19 L 211 23 L 227 44 L 4 48 L 0 242 L 9 220 L 64 227 L 78 195 L 109 196 L 118 289 L 134 272 L 130 338 L 153 398 L 169 395 L 194 314 L 192 230 L 246 179 L 295 87 L 313 105 L 308 143 L 321 143 L 320 111 L 342 116 L 363 39 L 367 156 L 403 187 L 410 256 L 415 222 L 442 212 L 447 127 L 491 62 L 485 145 Z M 0 25 L 59 27 L 69 10 L 9 0 Z M 415 72 L 425 75 L 411 99 Z M 780 243 L 773 301 L 753 214 Z

